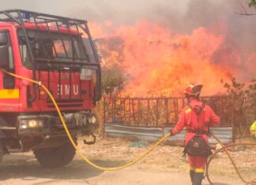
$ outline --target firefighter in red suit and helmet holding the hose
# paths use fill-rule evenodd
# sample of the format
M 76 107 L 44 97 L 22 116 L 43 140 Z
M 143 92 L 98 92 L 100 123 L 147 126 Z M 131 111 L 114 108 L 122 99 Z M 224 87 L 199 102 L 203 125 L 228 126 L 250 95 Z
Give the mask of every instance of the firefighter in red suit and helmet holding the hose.
M 180 113 L 175 128 L 171 130 L 171 135 L 177 135 L 186 128 L 184 154 L 188 155 L 190 162 L 192 185 L 201 185 L 207 157 L 212 154 L 208 142 L 209 127 L 220 124 L 220 118 L 216 116 L 213 109 L 200 101 L 202 87 L 195 84 L 186 87 L 185 95 L 188 104 Z

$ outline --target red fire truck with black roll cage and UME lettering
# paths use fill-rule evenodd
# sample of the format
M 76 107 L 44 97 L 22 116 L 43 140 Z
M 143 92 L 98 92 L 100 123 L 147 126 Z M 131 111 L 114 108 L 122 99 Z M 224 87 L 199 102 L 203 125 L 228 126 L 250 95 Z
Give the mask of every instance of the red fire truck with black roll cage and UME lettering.
M 98 127 L 92 108 L 101 96 L 100 61 L 87 21 L 1 11 L 0 68 L 46 86 L 75 142 Z M 28 150 L 45 167 L 66 165 L 76 153 L 48 94 L 0 71 L 0 158 Z

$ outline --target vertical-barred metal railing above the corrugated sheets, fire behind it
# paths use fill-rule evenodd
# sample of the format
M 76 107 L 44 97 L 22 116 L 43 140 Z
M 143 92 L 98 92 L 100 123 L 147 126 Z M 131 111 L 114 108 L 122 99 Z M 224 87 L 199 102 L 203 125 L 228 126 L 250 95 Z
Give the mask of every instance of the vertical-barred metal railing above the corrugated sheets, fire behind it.
M 230 96 L 201 99 L 221 117 L 222 126 L 234 124 L 234 104 Z M 168 127 L 177 122 L 186 104 L 186 98 L 104 98 L 104 123 Z

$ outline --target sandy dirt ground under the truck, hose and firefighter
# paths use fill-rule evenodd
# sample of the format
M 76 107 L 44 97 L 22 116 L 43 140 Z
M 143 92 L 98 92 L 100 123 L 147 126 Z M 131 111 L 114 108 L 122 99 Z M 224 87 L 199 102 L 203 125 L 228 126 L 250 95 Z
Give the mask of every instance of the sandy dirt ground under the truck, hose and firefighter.
M 151 144 L 130 142 L 125 139 L 105 139 L 95 145 L 79 143 L 82 152 L 98 165 L 124 165 L 134 159 Z M 181 185 L 190 184 L 187 173 L 188 163 L 182 157 L 183 148 L 179 146 L 158 146 L 147 157 L 130 168 L 116 172 L 102 172 L 85 164 L 81 157 L 64 168 L 41 168 L 32 152 L 12 154 L 4 157 L 0 167 L 2 184 L 89 184 L 89 185 Z M 236 148 L 231 151 L 239 170 L 246 179 L 256 178 L 255 147 Z M 219 154 L 210 166 L 210 176 L 216 185 L 243 184 L 232 169 L 225 154 Z M 209 184 L 205 179 L 203 184 Z

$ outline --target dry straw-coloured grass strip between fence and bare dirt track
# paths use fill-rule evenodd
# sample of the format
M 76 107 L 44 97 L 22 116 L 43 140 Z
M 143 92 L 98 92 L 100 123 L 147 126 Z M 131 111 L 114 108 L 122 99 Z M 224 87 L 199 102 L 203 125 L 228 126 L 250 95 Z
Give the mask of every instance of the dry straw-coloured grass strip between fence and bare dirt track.
M 93 161 L 107 161 L 104 163 L 105 165 L 114 166 L 117 163 L 124 165 L 134 160 L 151 144 L 136 147 L 136 142 L 126 139 L 101 139 L 95 145 L 80 146 L 81 150 Z M 151 168 L 171 172 L 186 172 L 189 169 L 188 161 L 182 157 L 182 153 L 183 147 L 160 145 L 135 166 L 140 169 Z M 237 147 L 230 153 L 239 167 L 239 171 L 246 179 L 256 177 L 255 147 Z M 236 176 L 235 170 L 224 152 L 217 154 L 213 159 L 209 173 L 213 176 Z

